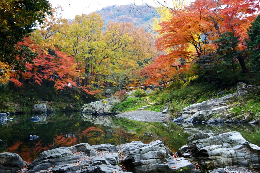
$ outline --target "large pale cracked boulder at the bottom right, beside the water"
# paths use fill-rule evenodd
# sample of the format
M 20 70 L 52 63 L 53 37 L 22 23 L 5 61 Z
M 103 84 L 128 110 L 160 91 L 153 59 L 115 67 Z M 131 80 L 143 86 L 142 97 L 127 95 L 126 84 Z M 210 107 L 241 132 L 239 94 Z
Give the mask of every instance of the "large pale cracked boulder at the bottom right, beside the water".
M 205 169 L 225 168 L 229 165 L 259 169 L 260 147 L 246 141 L 239 132 L 229 132 L 218 136 L 212 133 L 194 134 L 187 145 L 178 150 L 181 157 L 199 163 Z

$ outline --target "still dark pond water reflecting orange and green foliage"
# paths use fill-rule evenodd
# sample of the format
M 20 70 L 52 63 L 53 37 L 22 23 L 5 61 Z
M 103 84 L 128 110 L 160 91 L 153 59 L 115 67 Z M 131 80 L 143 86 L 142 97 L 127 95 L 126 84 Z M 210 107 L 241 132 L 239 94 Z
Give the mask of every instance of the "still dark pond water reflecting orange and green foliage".
M 240 132 L 246 140 L 260 146 L 260 127 L 250 124 L 177 124 L 174 122 L 140 122 L 115 116 L 94 116 L 80 113 L 41 115 L 15 115 L 13 121 L 0 125 L 0 152 L 19 154 L 24 161 L 33 161 L 40 153 L 77 143 L 90 145 L 110 143 L 119 145 L 131 141 L 149 143 L 161 140 L 173 152 L 186 144 L 196 133 L 222 134 Z M 30 140 L 30 135 L 40 136 Z

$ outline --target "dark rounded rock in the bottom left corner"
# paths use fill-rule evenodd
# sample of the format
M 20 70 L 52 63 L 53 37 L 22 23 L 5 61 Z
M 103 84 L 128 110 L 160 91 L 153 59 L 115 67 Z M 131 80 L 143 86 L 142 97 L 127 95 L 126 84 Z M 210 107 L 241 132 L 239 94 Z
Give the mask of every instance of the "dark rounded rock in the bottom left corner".
M 22 158 L 15 153 L 0 153 L 0 173 L 13 173 L 25 166 Z

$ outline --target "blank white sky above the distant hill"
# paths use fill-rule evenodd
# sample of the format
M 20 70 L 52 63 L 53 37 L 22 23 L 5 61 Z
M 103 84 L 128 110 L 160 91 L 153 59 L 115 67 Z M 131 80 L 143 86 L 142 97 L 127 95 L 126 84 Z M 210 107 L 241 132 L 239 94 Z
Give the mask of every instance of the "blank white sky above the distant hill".
M 74 19 L 76 15 L 82 13 L 89 14 L 93 11 L 100 10 L 109 5 L 126 5 L 134 3 L 135 5 L 142 5 L 144 3 L 156 6 L 154 0 L 49 0 L 53 7 L 56 4 L 61 5 L 63 17 L 67 19 Z

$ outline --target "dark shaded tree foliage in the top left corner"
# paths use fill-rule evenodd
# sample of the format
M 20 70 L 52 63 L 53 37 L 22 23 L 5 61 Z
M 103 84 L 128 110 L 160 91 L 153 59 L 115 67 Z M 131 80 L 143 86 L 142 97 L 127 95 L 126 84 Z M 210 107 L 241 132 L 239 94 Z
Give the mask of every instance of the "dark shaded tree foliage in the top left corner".
M 3 0 L 0 3 L 0 61 L 14 70 L 26 71 L 25 64 L 33 63 L 34 54 L 26 46 L 17 46 L 29 36 L 36 24 L 42 24 L 45 13 L 51 15 L 47 0 Z M 27 56 L 24 56 L 24 54 Z M 18 57 L 18 58 L 17 58 Z M 0 71 L 4 72 L 4 66 Z

